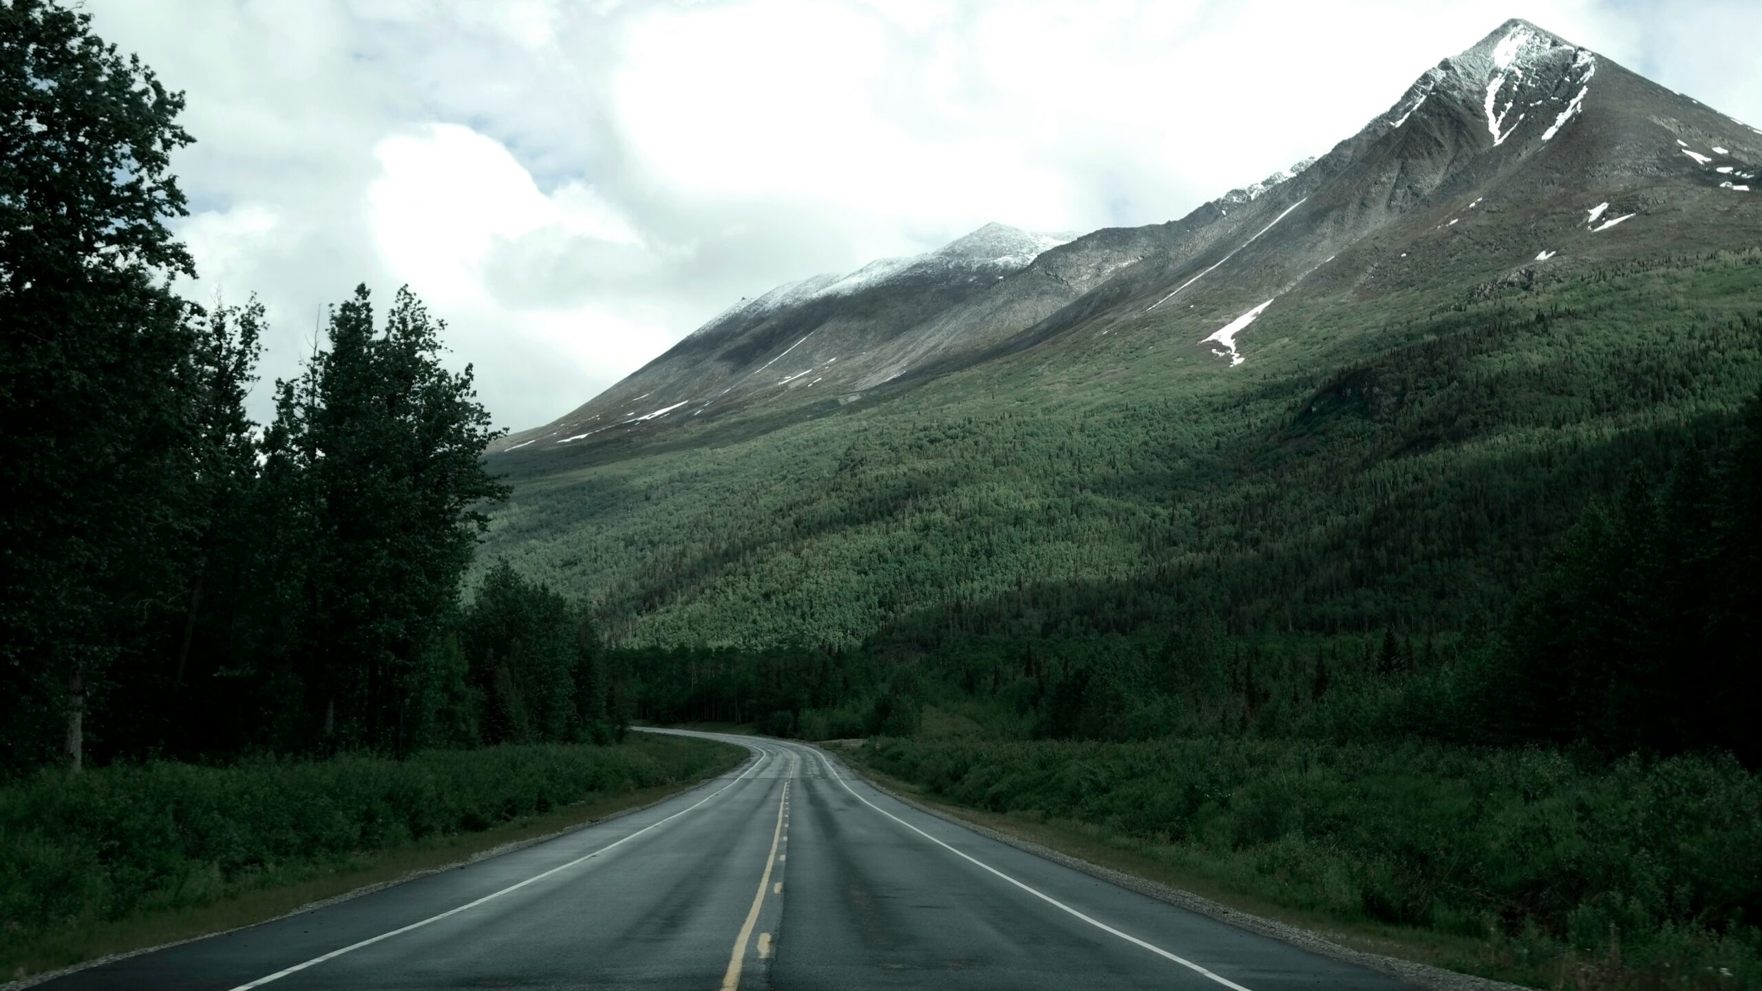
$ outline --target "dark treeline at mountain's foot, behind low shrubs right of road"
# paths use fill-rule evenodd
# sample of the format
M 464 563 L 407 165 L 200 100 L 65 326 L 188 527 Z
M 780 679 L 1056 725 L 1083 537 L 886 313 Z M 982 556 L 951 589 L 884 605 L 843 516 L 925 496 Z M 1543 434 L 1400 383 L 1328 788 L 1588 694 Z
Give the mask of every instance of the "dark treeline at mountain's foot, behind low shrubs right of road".
M 909 735 L 936 705 L 990 737 L 1434 739 L 1762 764 L 1748 712 L 1762 693 L 1762 397 L 1707 453 L 1692 446 L 1662 474 L 1633 466 L 1612 496 L 1538 548 L 1499 612 L 1457 631 L 1232 630 L 1198 600 L 1124 631 L 1098 630 L 1098 612 L 948 621 L 856 649 L 610 656 L 643 718 L 811 739 Z

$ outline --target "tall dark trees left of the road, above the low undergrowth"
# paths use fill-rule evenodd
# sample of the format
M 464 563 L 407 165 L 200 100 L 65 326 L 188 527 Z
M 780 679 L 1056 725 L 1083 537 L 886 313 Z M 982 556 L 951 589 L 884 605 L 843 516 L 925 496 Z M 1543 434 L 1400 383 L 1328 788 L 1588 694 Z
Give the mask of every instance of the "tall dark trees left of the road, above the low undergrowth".
M 506 487 L 416 296 L 356 289 L 250 420 L 264 309 L 171 289 L 181 109 L 88 14 L 0 7 L 0 774 L 615 737 L 580 610 L 462 607 Z

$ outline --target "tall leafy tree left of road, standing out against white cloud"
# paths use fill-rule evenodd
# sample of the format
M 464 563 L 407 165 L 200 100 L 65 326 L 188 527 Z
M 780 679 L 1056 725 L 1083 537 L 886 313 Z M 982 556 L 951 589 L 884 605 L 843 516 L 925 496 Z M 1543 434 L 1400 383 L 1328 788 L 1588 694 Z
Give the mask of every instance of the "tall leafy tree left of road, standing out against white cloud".
M 409 289 L 375 328 L 361 286 L 307 374 L 278 383 L 264 474 L 305 585 L 296 670 L 331 744 L 416 742 L 425 651 L 488 522 L 479 506 L 507 492 L 481 464 L 499 432 L 470 367 L 440 363 L 442 328 Z

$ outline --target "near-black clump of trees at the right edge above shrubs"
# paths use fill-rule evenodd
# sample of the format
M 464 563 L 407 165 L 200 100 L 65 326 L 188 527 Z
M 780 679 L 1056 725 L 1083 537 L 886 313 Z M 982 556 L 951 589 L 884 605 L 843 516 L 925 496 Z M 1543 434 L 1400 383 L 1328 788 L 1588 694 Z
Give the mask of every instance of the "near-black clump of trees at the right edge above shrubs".
M 1692 448 L 1665 485 L 1635 466 L 1614 511 L 1593 504 L 1515 607 L 1484 677 L 1505 741 L 1614 753 L 1721 748 L 1762 764 L 1762 691 L 1744 617 L 1762 610 L 1748 538 L 1762 446 L 1751 400 L 1725 471 Z M 1658 492 L 1655 496 L 1655 492 Z

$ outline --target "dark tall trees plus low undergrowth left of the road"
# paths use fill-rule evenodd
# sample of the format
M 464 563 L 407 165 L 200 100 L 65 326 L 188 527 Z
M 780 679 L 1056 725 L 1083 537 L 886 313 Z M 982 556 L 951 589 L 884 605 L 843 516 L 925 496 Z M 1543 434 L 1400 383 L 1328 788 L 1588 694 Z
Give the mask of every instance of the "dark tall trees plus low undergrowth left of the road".
M 181 298 L 183 95 L 0 4 L 0 980 L 555 832 L 745 751 L 629 739 L 594 621 L 463 577 L 507 494 L 446 324 L 329 307 L 254 423 L 266 310 Z

